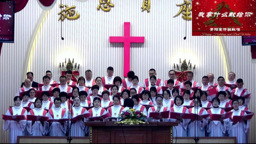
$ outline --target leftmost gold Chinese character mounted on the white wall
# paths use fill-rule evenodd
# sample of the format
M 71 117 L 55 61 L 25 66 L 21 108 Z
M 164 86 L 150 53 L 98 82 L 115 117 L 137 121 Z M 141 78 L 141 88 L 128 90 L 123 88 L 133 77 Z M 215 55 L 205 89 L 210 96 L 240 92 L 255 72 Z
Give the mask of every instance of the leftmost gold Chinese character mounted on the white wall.
M 63 4 L 60 4 L 60 8 L 63 8 L 64 5 Z M 60 15 L 60 18 L 59 18 L 59 21 L 64 21 L 66 18 L 68 20 L 77 20 L 80 18 L 80 14 L 78 12 L 76 12 L 75 8 L 76 6 L 71 6 L 71 7 L 68 7 L 67 4 L 65 4 L 65 7 L 66 9 L 62 9 L 58 15 Z M 76 13 L 76 15 L 75 15 Z

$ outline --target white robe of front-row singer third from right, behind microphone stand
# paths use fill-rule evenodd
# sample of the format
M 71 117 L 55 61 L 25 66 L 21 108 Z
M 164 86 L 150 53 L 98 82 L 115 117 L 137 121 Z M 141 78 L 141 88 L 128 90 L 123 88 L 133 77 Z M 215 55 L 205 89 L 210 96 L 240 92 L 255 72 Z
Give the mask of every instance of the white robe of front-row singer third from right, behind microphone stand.
M 196 108 L 196 113 L 199 114 L 201 109 L 202 109 L 201 107 L 197 107 Z M 195 114 L 195 108 L 192 108 L 191 113 Z M 208 112 L 205 109 L 204 109 L 204 111 L 201 115 L 204 115 L 204 114 L 208 114 Z M 198 120 L 198 121 L 195 120 L 194 122 L 189 122 L 189 124 L 188 124 L 188 137 L 195 137 L 195 122 L 196 122 L 196 136 L 204 137 L 205 136 L 204 126 L 206 126 L 208 124 L 208 119 L 209 118 L 206 118 L 206 119 L 203 118 L 203 122 L 201 122 L 200 120 Z M 197 135 L 197 131 L 198 131 L 198 135 Z

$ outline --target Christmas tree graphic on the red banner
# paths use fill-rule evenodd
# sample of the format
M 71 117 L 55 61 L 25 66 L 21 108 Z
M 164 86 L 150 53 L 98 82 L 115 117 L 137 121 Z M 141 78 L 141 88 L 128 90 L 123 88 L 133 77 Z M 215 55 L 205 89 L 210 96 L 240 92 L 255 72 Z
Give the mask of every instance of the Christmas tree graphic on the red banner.
M 217 17 L 217 14 L 212 14 L 212 17 L 210 17 L 210 20 L 204 22 L 205 25 L 207 26 L 214 26 L 218 28 L 234 28 L 234 27 L 239 27 L 242 26 L 242 23 L 238 20 L 238 17 L 236 17 L 236 13 L 232 11 L 229 7 L 228 4 L 226 4 L 224 1 L 218 5 L 216 5 L 217 8 L 212 10 L 212 12 L 219 12 L 220 15 Z M 221 17 L 221 14 L 228 12 L 233 12 L 235 17 Z M 227 14 L 227 16 L 228 16 Z

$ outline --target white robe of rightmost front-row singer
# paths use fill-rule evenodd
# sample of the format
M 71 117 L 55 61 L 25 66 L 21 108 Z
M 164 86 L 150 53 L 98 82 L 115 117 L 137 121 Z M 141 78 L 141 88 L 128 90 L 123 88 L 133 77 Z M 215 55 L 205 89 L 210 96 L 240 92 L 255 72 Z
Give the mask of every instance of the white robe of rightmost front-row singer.
M 233 116 L 240 116 L 241 111 L 240 109 L 234 110 L 232 109 L 231 112 L 233 111 L 232 118 Z M 246 115 L 246 113 L 244 113 Z M 228 131 L 228 136 L 229 137 L 236 137 L 237 143 L 246 143 L 246 133 L 249 130 L 249 125 L 250 121 L 247 120 L 247 124 L 243 122 L 237 122 L 236 124 L 233 125 L 233 122 L 229 122 L 229 125 L 227 125 L 227 131 Z

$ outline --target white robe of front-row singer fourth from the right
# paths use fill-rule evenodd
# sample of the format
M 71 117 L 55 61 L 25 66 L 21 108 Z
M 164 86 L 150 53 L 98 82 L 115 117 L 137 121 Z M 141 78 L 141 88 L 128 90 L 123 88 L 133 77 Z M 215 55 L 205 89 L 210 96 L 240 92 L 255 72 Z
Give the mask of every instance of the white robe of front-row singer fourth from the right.
M 174 105 L 173 106 L 173 110 L 174 112 L 176 113 L 182 113 L 183 111 L 183 106 L 176 106 Z M 171 112 L 171 111 L 170 111 Z M 186 109 L 186 112 L 188 114 L 188 109 Z M 172 119 L 170 118 L 169 119 L 169 122 L 175 122 L 177 119 Z M 174 134 L 174 137 L 176 138 L 177 136 L 178 137 L 186 137 L 187 136 L 187 128 L 188 128 L 188 122 L 189 120 L 188 119 L 182 119 L 182 122 L 180 121 L 179 122 L 179 125 L 178 126 L 175 126 L 172 128 L 173 130 L 173 134 Z M 177 130 L 177 135 L 176 135 L 176 130 Z

